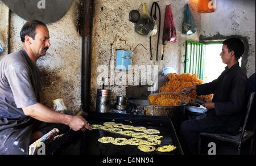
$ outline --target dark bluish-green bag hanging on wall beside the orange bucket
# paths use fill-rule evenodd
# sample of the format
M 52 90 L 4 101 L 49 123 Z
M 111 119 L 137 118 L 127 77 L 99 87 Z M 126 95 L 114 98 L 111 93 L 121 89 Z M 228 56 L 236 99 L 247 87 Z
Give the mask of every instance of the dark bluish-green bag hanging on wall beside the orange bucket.
M 193 33 L 196 33 L 197 27 L 194 22 L 193 15 L 191 13 L 191 10 L 188 6 L 188 3 L 185 5 L 184 10 L 184 19 L 182 23 L 182 34 L 185 35 L 192 35 Z

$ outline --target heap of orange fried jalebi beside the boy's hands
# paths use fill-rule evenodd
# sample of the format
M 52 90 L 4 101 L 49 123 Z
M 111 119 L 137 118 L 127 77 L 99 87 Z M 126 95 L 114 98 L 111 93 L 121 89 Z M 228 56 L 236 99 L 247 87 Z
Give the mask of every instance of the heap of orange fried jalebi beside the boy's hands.
M 196 86 L 203 83 L 203 80 L 197 78 L 196 74 L 168 74 L 169 81 L 162 87 L 160 87 L 159 92 L 180 92 L 185 87 Z M 193 100 L 188 99 L 186 97 L 182 97 L 183 95 L 177 94 L 164 94 L 164 95 L 150 95 L 148 96 L 148 102 L 150 105 L 180 105 L 181 101 L 184 100 L 187 102 L 192 102 Z M 184 96 L 197 98 L 201 100 L 212 100 L 213 95 L 206 96 L 197 96 L 196 91 L 192 91 L 189 94 Z M 167 100 L 168 99 L 168 100 Z M 172 100 L 175 99 L 175 100 Z

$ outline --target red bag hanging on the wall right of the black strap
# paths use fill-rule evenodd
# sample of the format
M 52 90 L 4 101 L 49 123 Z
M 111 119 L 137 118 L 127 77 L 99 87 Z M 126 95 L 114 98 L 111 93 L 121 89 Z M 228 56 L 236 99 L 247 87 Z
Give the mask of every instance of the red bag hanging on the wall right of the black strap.
M 166 6 L 166 15 L 164 16 L 163 41 L 170 43 L 177 42 L 174 15 L 172 14 L 171 4 Z

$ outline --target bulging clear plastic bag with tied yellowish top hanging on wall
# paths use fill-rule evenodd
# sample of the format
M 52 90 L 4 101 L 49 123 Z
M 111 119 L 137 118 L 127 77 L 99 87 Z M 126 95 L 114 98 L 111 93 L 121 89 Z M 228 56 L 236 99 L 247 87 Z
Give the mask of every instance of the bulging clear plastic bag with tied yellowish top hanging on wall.
M 158 32 L 155 20 L 146 11 L 143 4 L 143 10 L 140 19 L 135 23 L 135 31 L 140 35 L 154 36 Z

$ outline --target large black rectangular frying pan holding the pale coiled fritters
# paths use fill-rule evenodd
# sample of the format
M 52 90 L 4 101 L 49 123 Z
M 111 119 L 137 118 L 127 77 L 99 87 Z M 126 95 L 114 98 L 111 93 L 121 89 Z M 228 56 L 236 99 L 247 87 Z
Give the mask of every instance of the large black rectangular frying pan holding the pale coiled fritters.
M 117 146 L 112 143 L 104 144 L 98 142 L 101 137 L 125 137 L 123 135 L 110 133 L 103 130 L 68 131 L 59 140 L 48 147 L 47 154 L 84 154 L 84 155 L 183 155 L 179 139 L 177 138 L 171 119 L 167 117 L 138 116 L 131 114 L 93 113 L 88 118 L 90 124 L 103 124 L 106 121 L 113 121 L 133 126 L 144 126 L 148 129 L 157 129 L 163 136 L 162 144 L 173 144 L 176 150 L 172 152 L 143 152 L 137 146 Z M 132 123 L 131 123 L 132 122 Z M 131 137 L 126 137 L 131 138 Z M 159 147 L 159 146 L 155 146 Z

